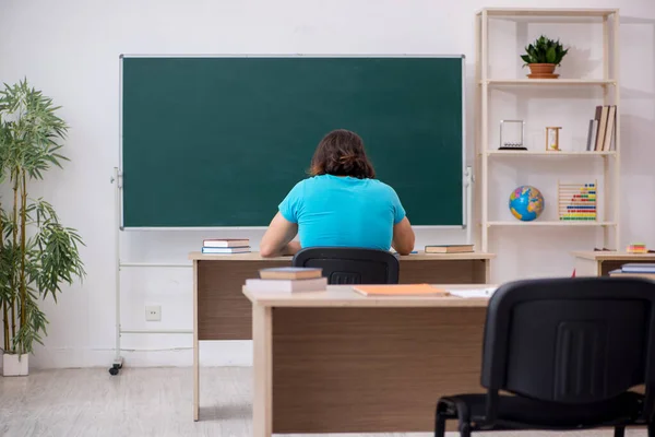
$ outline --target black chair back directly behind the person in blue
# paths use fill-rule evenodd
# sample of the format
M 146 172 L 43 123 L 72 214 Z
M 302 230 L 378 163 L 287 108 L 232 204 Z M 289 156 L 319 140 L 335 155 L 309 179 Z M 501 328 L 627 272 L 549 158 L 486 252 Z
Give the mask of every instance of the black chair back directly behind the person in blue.
M 386 250 L 308 247 L 294 256 L 293 265 L 323 269 L 330 285 L 398 283 L 398 259 Z

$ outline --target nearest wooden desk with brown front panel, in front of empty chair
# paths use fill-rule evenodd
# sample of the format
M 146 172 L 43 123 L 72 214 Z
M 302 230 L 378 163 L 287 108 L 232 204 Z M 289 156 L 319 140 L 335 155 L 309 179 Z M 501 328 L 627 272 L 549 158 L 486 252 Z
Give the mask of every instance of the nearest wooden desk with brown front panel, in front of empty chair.
M 432 432 L 440 395 L 483 392 L 486 298 L 364 297 L 345 285 L 243 294 L 254 437 Z

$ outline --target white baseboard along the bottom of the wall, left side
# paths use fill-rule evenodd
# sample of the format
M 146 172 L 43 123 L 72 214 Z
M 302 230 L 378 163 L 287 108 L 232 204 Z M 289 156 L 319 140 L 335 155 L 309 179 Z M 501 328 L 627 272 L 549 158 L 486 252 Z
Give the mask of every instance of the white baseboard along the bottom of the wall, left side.
M 189 367 L 193 365 L 193 350 L 187 347 L 121 351 L 124 367 Z M 115 351 L 104 349 L 39 347 L 29 358 L 31 368 L 111 367 Z M 252 366 L 251 341 L 201 342 L 200 365 L 203 367 Z

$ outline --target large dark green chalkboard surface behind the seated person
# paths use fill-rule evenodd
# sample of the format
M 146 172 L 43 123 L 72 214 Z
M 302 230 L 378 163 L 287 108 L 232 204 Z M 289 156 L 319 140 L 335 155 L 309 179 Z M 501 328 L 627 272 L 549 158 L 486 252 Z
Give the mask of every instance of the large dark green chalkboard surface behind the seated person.
M 462 225 L 452 57 L 121 57 L 122 227 L 266 226 L 329 131 L 360 134 L 414 225 Z

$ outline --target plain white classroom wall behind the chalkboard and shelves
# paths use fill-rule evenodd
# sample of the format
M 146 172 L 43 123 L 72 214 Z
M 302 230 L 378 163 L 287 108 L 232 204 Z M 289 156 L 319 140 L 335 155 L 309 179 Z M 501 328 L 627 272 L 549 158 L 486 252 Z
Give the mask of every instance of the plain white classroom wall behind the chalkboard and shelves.
M 50 319 L 46 346 L 33 363 L 52 366 L 108 366 L 114 345 L 114 186 L 118 165 L 120 54 L 465 54 L 468 59 L 468 126 L 473 126 L 474 12 L 485 5 L 543 7 L 539 1 L 474 0 L 2 0 L 0 1 L 0 81 L 26 76 L 63 106 L 61 115 L 72 129 L 66 152 L 72 160 L 64 170 L 52 170 L 47 182 L 34 187 L 76 227 L 86 241 L 82 256 L 88 276 L 82 285 L 66 290 L 59 305 L 47 306 Z M 652 0 L 556 0 L 548 7 L 620 8 L 623 139 L 623 243 L 643 240 L 655 247 L 653 217 L 655 194 L 652 163 L 655 158 L 655 3 Z M 493 31 L 501 47 L 495 68 L 507 62 L 539 32 L 538 26 Z M 575 54 L 562 67 L 564 76 L 594 74 L 599 56 L 592 36 L 597 29 L 558 29 Z M 519 37 L 517 37 L 519 35 Z M 523 38 L 523 39 L 522 39 Z M 588 62 L 584 59 L 588 58 Z M 496 58 L 495 58 L 496 59 Z M 500 62 L 500 63 L 499 63 Z M 590 71 L 591 69 L 591 71 Z M 514 74 L 525 71 L 512 67 Z M 563 126 L 563 144 L 584 139 L 591 106 L 584 93 L 571 102 L 560 95 L 539 94 L 527 104 L 517 94 L 498 94 L 491 120 L 508 115 L 528 121 L 528 138 L 540 146 L 544 126 Z M 521 95 L 525 97 L 525 95 Z M 571 97 L 571 95 L 568 95 Z M 548 103 L 551 106 L 541 107 Z M 512 114 L 512 111 L 514 114 Z M 472 131 L 469 132 L 472 133 Z M 492 133 L 491 139 L 496 134 Z M 473 135 L 469 134 L 469 139 Z M 472 143 L 468 155 L 473 156 Z M 563 172 L 574 172 L 568 166 Z M 514 185 L 539 184 L 553 199 L 553 176 L 547 168 L 492 175 L 498 184 L 499 215 L 507 215 L 507 194 Z M 213 234 L 219 236 L 221 234 Z M 254 243 L 259 232 L 235 233 Z M 122 236 L 124 261 L 184 262 L 199 248 L 204 233 L 127 233 Z M 458 232 L 420 232 L 418 245 L 461 241 Z M 568 275 L 573 249 L 590 249 L 594 234 L 577 229 L 498 229 L 491 250 L 498 253 L 493 280 L 526 275 Z M 502 243 L 502 245 L 501 245 Z M 191 272 L 188 269 L 126 270 L 123 328 L 145 328 L 144 305 L 162 304 L 163 321 L 152 328 L 191 327 Z M 189 365 L 190 335 L 124 335 L 127 365 Z M 202 363 L 248 364 L 248 342 L 202 347 Z

